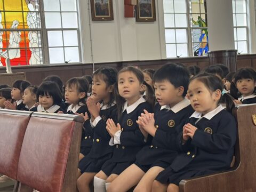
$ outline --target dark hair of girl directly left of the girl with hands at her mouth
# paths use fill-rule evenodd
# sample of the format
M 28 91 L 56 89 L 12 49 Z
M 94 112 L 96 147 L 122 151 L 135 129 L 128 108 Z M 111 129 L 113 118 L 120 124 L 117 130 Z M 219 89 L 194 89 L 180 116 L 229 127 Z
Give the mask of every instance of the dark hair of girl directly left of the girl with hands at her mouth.
M 79 99 L 78 102 L 82 102 L 84 104 L 86 103 L 85 98 L 87 98 L 87 92 L 89 90 L 89 84 L 87 81 L 84 81 L 82 77 L 73 77 L 67 81 L 66 87 L 68 88 L 76 87 L 78 93 L 85 92 L 85 97 Z

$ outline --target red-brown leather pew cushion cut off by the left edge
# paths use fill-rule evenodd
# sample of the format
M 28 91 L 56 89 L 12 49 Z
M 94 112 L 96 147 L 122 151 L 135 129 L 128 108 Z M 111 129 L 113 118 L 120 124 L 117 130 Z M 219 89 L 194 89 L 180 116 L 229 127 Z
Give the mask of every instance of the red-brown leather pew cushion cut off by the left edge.
M 0 111 L 0 173 L 17 179 L 18 161 L 30 116 Z

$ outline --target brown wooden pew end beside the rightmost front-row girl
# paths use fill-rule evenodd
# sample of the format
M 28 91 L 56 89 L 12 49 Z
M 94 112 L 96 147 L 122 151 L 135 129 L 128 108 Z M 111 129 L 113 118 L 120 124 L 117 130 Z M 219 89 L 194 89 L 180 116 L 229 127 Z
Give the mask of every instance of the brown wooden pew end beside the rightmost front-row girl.
M 256 191 L 256 125 L 252 121 L 256 105 L 238 107 L 233 114 L 237 117 L 238 129 L 233 168 L 226 172 L 182 180 L 180 192 Z

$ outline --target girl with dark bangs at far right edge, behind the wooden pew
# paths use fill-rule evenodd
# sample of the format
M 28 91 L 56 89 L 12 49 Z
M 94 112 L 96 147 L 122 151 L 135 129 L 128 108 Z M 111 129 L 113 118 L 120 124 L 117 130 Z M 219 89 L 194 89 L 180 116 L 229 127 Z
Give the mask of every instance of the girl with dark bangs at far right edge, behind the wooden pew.
M 252 68 L 239 69 L 234 75 L 234 83 L 239 93 L 241 93 L 241 97 L 234 100 L 236 104 L 256 103 L 256 73 Z

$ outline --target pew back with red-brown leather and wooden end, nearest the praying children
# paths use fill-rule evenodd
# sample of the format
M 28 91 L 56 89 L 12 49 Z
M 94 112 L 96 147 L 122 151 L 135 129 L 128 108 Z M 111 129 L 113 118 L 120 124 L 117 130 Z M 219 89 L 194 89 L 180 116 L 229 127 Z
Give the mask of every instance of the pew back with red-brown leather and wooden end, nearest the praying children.
M 18 191 L 76 191 L 83 117 L 33 113 L 22 143 Z

